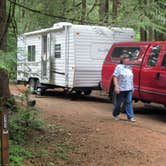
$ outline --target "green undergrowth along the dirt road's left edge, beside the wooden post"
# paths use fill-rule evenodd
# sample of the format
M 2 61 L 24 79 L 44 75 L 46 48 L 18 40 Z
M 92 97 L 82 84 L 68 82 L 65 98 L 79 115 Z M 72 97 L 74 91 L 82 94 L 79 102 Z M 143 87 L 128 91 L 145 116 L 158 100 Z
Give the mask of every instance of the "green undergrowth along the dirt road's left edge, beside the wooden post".
M 20 99 L 20 101 L 19 101 Z M 28 141 L 33 138 L 33 132 L 41 130 L 43 123 L 39 119 L 37 109 L 27 103 L 29 96 L 26 93 L 17 98 L 17 106 L 14 98 L 8 101 L 10 108 L 9 136 L 10 136 L 10 165 L 22 166 L 26 158 L 31 157 L 31 151 L 26 148 Z M 20 104 L 19 104 L 20 103 Z M 12 106 L 12 107 L 11 107 Z M 31 138 L 31 139 L 30 139 Z

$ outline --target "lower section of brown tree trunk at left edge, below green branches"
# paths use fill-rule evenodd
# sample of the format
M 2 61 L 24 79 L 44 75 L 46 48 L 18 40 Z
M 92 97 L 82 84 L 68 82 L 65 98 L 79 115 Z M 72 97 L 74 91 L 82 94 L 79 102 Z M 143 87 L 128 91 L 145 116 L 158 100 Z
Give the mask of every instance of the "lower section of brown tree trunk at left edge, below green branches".
M 8 73 L 0 68 L 0 98 L 2 101 L 6 101 L 10 97 L 9 90 L 9 77 Z M 0 103 L 0 106 L 3 106 L 4 103 Z

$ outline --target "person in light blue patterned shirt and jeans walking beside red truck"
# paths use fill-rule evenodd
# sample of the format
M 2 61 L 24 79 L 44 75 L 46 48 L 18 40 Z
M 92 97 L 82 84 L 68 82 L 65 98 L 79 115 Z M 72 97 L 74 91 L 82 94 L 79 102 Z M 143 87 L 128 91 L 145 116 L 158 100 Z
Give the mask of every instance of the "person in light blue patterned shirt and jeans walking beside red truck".
M 116 66 L 113 73 L 114 82 L 114 111 L 113 118 L 119 120 L 121 104 L 125 102 L 127 118 L 131 122 L 135 122 L 132 106 L 133 94 L 133 72 L 129 66 L 129 56 L 123 54 L 120 64 Z

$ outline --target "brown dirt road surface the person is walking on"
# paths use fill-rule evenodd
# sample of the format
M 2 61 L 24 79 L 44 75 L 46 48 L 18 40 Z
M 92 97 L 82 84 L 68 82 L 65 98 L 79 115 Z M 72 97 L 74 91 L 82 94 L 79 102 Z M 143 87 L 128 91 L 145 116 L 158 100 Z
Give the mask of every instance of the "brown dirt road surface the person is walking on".
M 11 86 L 18 94 L 22 86 Z M 65 96 L 49 92 L 35 97 L 45 123 L 58 123 L 70 132 L 77 147 L 69 166 L 166 166 L 166 109 L 134 104 L 137 122 L 112 119 L 113 106 L 103 93 Z

